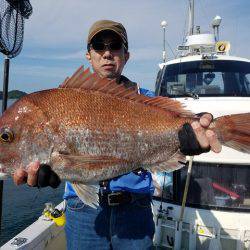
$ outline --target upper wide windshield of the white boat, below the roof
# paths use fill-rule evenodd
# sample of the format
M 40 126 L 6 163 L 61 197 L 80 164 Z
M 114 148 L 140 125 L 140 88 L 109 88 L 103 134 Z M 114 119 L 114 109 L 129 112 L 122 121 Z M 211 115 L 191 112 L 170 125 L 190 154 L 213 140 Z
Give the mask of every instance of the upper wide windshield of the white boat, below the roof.
M 165 66 L 157 78 L 157 94 L 169 97 L 250 96 L 250 63 L 204 60 Z

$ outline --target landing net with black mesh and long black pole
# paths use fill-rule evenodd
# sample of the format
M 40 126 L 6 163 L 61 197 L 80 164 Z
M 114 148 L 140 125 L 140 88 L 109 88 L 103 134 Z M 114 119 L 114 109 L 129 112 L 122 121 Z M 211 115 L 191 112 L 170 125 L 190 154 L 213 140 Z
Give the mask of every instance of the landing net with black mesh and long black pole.
M 0 0 L 0 52 L 4 59 L 2 113 L 7 108 L 10 59 L 22 50 L 24 19 L 32 14 L 29 0 Z M 2 222 L 3 180 L 0 180 L 0 232 Z

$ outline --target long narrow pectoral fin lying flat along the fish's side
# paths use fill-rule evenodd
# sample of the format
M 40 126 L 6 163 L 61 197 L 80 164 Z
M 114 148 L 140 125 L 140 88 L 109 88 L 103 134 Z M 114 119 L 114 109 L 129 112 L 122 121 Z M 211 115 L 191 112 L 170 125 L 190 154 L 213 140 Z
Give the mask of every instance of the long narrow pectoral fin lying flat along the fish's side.
M 66 152 L 53 152 L 51 155 L 51 161 L 54 165 L 63 165 L 66 168 L 75 166 L 76 168 L 84 168 L 91 170 L 98 170 L 100 168 L 103 168 L 104 166 L 127 163 L 126 160 L 112 156 L 72 155 L 67 154 Z

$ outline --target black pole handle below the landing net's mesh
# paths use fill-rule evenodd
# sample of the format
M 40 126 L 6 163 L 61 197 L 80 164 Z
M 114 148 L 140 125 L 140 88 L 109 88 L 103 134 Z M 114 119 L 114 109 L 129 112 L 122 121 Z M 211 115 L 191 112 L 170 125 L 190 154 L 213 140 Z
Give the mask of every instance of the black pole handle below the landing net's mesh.
M 10 59 L 5 58 L 4 73 L 3 73 L 2 113 L 6 110 L 8 102 L 9 68 L 10 68 Z M 0 233 L 2 228 L 2 207 L 3 207 L 3 181 L 0 180 Z

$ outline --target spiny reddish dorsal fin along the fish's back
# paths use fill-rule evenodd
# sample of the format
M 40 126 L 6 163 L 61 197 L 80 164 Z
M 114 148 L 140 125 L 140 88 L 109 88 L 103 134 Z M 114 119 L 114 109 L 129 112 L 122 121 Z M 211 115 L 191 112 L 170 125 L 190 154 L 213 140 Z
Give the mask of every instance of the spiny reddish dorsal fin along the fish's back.
M 147 106 L 171 111 L 178 116 L 194 116 L 192 112 L 184 109 L 184 106 L 178 101 L 163 96 L 148 97 L 140 95 L 138 94 L 137 86 L 125 87 L 124 84 L 118 84 L 116 80 L 101 78 L 96 73 L 91 73 L 89 68 L 84 70 L 83 66 L 78 68 L 71 77 L 67 77 L 60 87 L 98 91 Z

